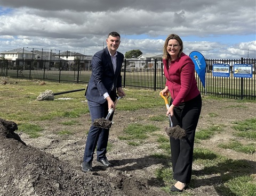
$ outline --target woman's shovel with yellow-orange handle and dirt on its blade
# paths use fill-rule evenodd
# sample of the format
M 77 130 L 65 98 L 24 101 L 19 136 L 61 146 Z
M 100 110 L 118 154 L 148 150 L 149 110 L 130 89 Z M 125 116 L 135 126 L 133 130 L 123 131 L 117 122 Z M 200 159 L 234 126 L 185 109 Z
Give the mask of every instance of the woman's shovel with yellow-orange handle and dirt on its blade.
M 166 109 L 168 110 L 169 109 L 168 98 L 170 97 L 169 93 L 167 93 L 167 95 L 164 96 L 160 92 L 159 95 L 164 99 Z M 175 139 L 185 138 L 186 137 L 185 130 L 183 130 L 179 125 L 176 125 L 173 127 L 171 114 L 168 114 L 168 117 L 169 117 L 169 121 L 170 121 L 170 127 L 165 127 L 166 134 Z

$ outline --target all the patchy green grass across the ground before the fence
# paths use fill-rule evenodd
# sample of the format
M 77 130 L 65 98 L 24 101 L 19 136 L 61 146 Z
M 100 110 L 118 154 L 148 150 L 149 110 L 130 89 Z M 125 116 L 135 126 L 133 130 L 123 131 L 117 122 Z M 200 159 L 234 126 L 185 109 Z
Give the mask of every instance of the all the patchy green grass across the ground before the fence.
M 87 103 L 84 98 L 84 91 L 67 93 L 63 95 L 54 96 L 53 101 L 36 101 L 39 93 L 46 89 L 53 92 L 62 92 L 74 89 L 85 88 L 83 84 L 70 83 L 54 83 L 46 82 L 45 85 L 39 86 L 39 82 L 35 80 L 18 80 L 8 79 L 9 84 L 0 86 L 0 116 L 9 121 L 14 121 L 18 124 L 19 132 L 26 133 L 31 138 L 40 137 L 43 129 L 37 124 L 38 121 L 55 121 L 62 125 L 76 126 L 78 121 L 76 118 L 83 114 L 89 113 Z M 15 83 L 17 82 L 17 83 Z M 126 96 L 121 99 L 117 105 L 118 110 L 137 110 L 141 108 L 164 108 L 164 101 L 159 96 L 159 91 L 149 90 L 133 90 L 124 89 Z M 69 100 L 59 100 L 58 98 L 69 97 Z M 221 101 L 230 101 L 229 99 L 204 97 L 203 99 L 218 99 Z M 249 100 L 247 100 L 249 101 Z M 234 102 L 234 101 L 233 101 Z M 245 100 L 235 100 L 236 103 L 244 103 Z M 245 108 L 243 104 L 232 105 L 230 107 Z M 209 116 L 214 118 L 218 114 L 209 113 Z M 61 122 L 58 120 L 61 118 Z M 168 121 L 165 115 L 153 115 L 149 118 L 150 121 L 164 122 Z M 256 118 L 246 121 L 235 122 L 233 129 L 236 135 L 244 137 L 246 140 L 255 140 L 256 138 Z M 154 123 L 154 122 L 153 122 Z M 196 140 L 211 139 L 213 135 L 223 131 L 225 125 L 212 125 L 207 129 L 202 129 L 196 132 Z M 65 128 L 55 134 L 70 135 L 71 128 Z M 119 135 L 119 139 L 126 140 L 131 146 L 139 146 L 145 142 L 149 137 L 153 138 L 158 143 L 158 148 L 163 150 L 163 153 L 155 153 L 150 155 L 156 159 L 163 159 L 162 163 L 170 160 L 170 141 L 166 135 L 159 135 L 155 133 L 159 128 L 155 125 L 145 125 L 134 123 L 125 127 L 123 134 Z M 87 131 L 86 131 L 87 133 Z M 240 143 L 241 144 L 241 143 Z M 226 148 L 233 150 L 243 149 L 244 153 L 255 154 L 254 144 L 247 143 L 240 145 L 239 142 L 226 143 Z M 223 144 L 224 145 L 224 144 Z M 107 150 L 111 150 L 114 144 L 109 142 Z M 232 148 L 231 148 L 232 147 Z M 253 150 L 254 148 L 254 150 Z M 232 160 L 227 157 L 203 148 L 196 148 L 194 150 L 194 164 L 200 167 L 199 170 L 193 170 L 193 180 L 191 181 L 191 188 L 196 187 L 196 181 L 204 181 L 205 184 L 212 183 L 219 194 L 229 196 L 233 195 L 253 195 L 255 193 L 255 174 L 252 174 L 250 161 L 246 160 Z M 170 186 L 175 182 L 172 177 L 171 163 L 156 169 L 156 177 L 158 181 L 163 182 L 163 190 L 169 192 Z M 211 178 L 211 176 L 214 176 Z M 211 185 L 211 184 L 209 184 Z M 186 192 L 180 195 L 188 195 Z

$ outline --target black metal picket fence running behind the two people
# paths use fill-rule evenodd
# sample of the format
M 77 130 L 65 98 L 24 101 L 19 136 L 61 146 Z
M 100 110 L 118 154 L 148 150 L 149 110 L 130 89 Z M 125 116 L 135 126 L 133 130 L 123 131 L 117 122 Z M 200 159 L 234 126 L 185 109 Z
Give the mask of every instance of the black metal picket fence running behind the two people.
M 213 64 L 229 64 L 230 76 L 213 76 Z M 234 76 L 234 64 L 252 64 L 252 78 Z M 65 83 L 89 82 L 91 61 L 47 61 L 17 60 L 0 61 L 0 75 L 11 78 L 38 79 Z M 256 59 L 206 59 L 205 88 L 195 72 L 198 89 L 203 95 L 214 95 L 231 99 L 255 100 Z M 162 90 L 165 87 L 162 59 L 125 59 L 122 67 L 124 88 Z

